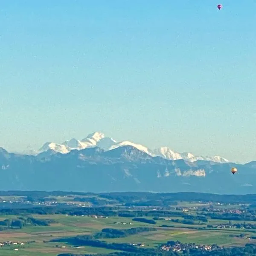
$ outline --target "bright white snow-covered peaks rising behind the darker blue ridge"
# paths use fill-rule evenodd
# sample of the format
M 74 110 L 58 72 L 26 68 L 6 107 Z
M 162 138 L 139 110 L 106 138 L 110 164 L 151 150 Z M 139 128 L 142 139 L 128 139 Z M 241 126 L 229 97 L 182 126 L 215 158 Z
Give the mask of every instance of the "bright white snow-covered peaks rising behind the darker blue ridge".
M 227 159 L 219 156 L 215 156 L 215 157 L 195 156 L 191 153 L 178 153 L 178 152 L 172 151 L 168 147 L 161 147 L 161 148 L 151 150 L 144 145 L 136 144 L 130 141 L 117 142 L 116 140 L 113 140 L 111 137 L 106 137 L 105 134 L 101 132 L 94 132 L 92 134 L 89 134 L 86 138 L 82 140 L 76 140 L 74 138 L 71 140 L 66 140 L 64 141 L 64 143 L 61 143 L 61 144 L 47 142 L 40 148 L 38 153 L 41 153 L 50 149 L 55 152 L 67 154 L 68 152 L 74 149 L 81 150 L 81 149 L 92 148 L 96 146 L 99 148 L 102 148 L 105 151 L 113 150 L 115 148 L 119 148 L 122 146 L 133 146 L 134 148 L 137 148 L 138 150 L 143 151 L 152 157 L 159 156 L 168 160 L 183 159 L 189 162 L 195 162 L 197 160 L 207 160 L 207 161 L 212 161 L 217 163 L 229 162 Z

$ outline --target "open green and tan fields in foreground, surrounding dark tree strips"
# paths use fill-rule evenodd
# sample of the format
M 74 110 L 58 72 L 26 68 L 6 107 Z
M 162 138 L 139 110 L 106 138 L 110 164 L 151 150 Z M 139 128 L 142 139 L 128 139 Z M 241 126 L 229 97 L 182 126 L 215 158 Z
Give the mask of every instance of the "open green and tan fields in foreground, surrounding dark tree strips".
M 10 218 L 10 216 L 1 216 L 1 219 Z M 18 216 L 16 216 L 18 217 Z M 23 246 L 4 246 L 0 248 L 1 256 L 56 256 L 59 253 L 111 253 L 111 250 L 84 247 L 74 248 L 72 245 L 64 243 L 52 243 L 51 239 L 72 237 L 76 235 L 91 234 L 101 231 L 103 228 L 128 229 L 132 227 L 156 227 L 157 231 L 140 233 L 133 236 L 117 239 L 102 239 L 108 242 L 117 243 L 142 243 L 145 247 L 155 247 L 169 240 L 179 240 L 183 243 L 195 242 L 198 244 L 218 244 L 225 246 L 239 246 L 248 243 L 248 236 L 253 236 L 250 231 L 238 229 L 218 229 L 218 230 L 195 230 L 193 227 L 206 227 L 207 224 L 220 224 L 224 221 L 211 220 L 204 225 L 186 225 L 174 223 L 171 221 L 157 221 L 157 224 L 146 224 L 142 222 L 132 221 L 132 218 L 92 218 L 82 216 L 66 216 L 66 215 L 33 215 L 37 219 L 53 219 L 58 223 L 49 226 L 32 226 L 24 227 L 20 230 L 2 231 L 0 241 L 35 241 L 31 244 Z M 15 216 L 12 216 L 15 218 Z M 174 217 L 175 218 L 175 217 Z M 115 222 L 124 222 L 124 224 L 114 224 Z M 129 224 L 132 222 L 132 225 Z M 227 222 L 227 221 L 226 221 Z M 174 227 L 160 227 L 161 225 L 171 225 Z M 232 237 L 238 236 L 240 233 L 246 234 L 244 238 Z M 250 240 L 253 242 L 253 240 Z M 56 247 L 58 246 L 58 247 Z M 65 246 L 65 248 L 61 248 Z M 18 248 L 18 251 L 14 251 Z

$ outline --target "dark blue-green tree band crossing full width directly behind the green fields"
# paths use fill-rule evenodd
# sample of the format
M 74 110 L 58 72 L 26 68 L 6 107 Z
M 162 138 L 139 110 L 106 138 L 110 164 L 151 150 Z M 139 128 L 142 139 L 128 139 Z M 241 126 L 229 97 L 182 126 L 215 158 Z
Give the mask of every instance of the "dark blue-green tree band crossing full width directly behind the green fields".
M 119 207 L 75 207 L 70 205 L 57 205 L 57 206 L 38 206 L 38 207 L 27 207 L 27 208 L 1 208 L 0 215 L 52 215 L 52 214 L 61 214 L 61 215 L 98 215 L 106 217 L 127 217 L 127 218 L 143 218 L 143 217 L 152 217 L 154 221 L 156 218 L 163 217 L 181 217 L 184 218 L 183 223 L 194 223 L 195 221 L 208 222 L 207 218 L 212 219 L 221 219 L 221 220 L 233 220 L 233 221 L 256 221 L 256 212 L 251 215 L 246 213 L 236 214 L 236 213 L 215 213 L 215 212 L 204 212 L 200 215 L 190 215 L 186 212 L 181 211 L 167 211 L 167 210 L 120 210 Z M 151 220 L 151 223 L 155 224 Z M 172 220 L 173 221 L 173 220 Z M 177 222 L 177 220 L 173 221 Z

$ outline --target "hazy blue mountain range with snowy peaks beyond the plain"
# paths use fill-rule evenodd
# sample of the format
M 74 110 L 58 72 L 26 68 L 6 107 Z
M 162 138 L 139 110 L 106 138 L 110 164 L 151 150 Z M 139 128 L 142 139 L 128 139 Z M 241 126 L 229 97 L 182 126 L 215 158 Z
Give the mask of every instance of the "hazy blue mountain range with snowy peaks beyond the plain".
M 80 142 L 84 144 L 60 144 L 66 153 L 58 152 L 63 147 L 56 143 L 45 144 L 35 155 L 0 148 L 0 190 L 256 193 L 256 161 L 170 160 L 100 133 Z M 82 146 L 75 149 L 78 145 Z M 232 167 L 238 169 L 236 175 Z

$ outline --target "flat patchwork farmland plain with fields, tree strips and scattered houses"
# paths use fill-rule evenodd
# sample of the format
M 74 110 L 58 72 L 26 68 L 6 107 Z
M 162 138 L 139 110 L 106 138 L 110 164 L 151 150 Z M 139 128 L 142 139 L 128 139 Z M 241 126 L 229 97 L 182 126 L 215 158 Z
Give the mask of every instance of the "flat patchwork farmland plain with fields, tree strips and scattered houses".
M 223 196 L 219 203 L 188 194 L 183 198 L 189 201 L 180 194 L 1 193 L 1 256 L 105 255 L 129 251 L 125 246 L 160 252 L 169 241 L 226 248 L 256 244 L 256 212 L 236 197 L 231 202 Z

